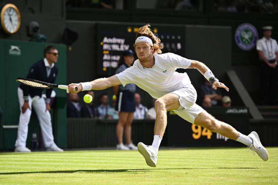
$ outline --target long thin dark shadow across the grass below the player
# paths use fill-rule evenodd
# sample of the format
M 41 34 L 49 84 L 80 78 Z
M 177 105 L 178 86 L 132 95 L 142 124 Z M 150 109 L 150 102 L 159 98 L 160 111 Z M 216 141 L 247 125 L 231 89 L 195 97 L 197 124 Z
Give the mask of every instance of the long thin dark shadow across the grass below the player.
M 36 174 L 36 173 L 141 173 L 153 170 L 199 170 L 199 169 L 258 169 L 258 168 L 153 168 L 153 169 L 115 169 L 115 170 L 67 170 L 67 171 L 26 171 L 8 172 L 0 175 Z

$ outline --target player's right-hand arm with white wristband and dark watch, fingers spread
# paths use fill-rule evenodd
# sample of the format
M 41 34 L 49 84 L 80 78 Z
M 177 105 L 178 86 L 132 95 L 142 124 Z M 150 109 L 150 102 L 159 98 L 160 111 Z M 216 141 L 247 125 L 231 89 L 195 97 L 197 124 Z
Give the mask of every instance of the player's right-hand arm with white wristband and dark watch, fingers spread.
M 212 87 L 214 89 L 217 89 L 217 87 L 221 87 L 221 88 L 225 88 L 226 91 L 229 91 L 229 88 L 225 84 L 223 84 L 219 81 L 213 81 L 216 78 L 213 75 L 213 73 L 210 71 L 210 69 L 204 63 L 196 61 L 196 60 L 192 60 L 190 66 L 188 68 L 198 69 L 200 71 L 200 73 L 202 73 L 202 75 L 204 75 L 204 77 L 206 79 L 208 79 L 208 81 L 212 80 L 211 81 Z

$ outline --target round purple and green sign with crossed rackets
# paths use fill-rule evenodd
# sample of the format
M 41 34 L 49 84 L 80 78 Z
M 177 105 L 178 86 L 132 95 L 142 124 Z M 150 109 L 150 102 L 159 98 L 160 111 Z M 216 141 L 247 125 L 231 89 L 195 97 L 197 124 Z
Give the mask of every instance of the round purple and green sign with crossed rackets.
M 243 23 L 235 31 L 234 39 L 242 50 L 250 51 L 256 46 L 258 31 L 249 23 Z

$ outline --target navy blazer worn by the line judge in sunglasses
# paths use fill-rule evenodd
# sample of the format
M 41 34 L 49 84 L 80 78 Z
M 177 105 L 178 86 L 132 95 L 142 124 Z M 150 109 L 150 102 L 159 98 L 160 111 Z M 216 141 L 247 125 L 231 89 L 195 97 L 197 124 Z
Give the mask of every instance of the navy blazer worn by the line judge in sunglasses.
M 50 75 L 47 77 L 46 67 L 44 65 L 44 59 L 41 59 L 31 66 L 26 78 L 54 84 L 57 74 L 58 74 L 58 68 L 56 67 L 56 65 L 54 65 L 54 67 L 51 68 Z M 23 84 L 20 84 L 19 87 L 23 90 L 23 96 L 30 95 L 31 97 L 34 96 L 41 97 L 43 91 L 43 89 L 41 88 L 33 88 Z M 46 98 L 50 98 L 51 91 L 52 91 L 51 88 L 46 89 Z

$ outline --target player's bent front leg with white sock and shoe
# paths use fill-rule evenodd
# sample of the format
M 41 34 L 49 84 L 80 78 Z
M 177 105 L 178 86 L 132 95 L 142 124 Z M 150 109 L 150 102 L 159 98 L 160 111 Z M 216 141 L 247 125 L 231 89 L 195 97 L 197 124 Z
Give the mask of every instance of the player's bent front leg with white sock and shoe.
M 137 145 L 138 151 L 144 156 L 146 163 L 150 167 L 156 167 L 158 148 L 167 125 L 167 111 L 178 109 L 179 105 L 179 96 L 173 93 L 168 93 L 158 98 L 154 103 L 156 120 L 154 125 L 153 144 L 147 146 L 139 142 Z

